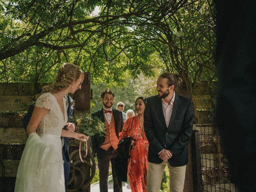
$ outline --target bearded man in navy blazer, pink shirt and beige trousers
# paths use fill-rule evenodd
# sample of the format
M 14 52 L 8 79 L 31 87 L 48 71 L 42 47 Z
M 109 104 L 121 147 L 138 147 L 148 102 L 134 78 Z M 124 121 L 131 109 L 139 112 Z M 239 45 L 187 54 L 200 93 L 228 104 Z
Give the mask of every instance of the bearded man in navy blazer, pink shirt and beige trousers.
M 160 190 L 166 165 L 170 173 L 170 192 L 182 192 L 188 142 L 192 135 L 192 100 L 176 94 L 177 76 L 163 73 L 157 80 L 158 95 L 148 97 L 144 130 L 149 142 L 147 192 Z

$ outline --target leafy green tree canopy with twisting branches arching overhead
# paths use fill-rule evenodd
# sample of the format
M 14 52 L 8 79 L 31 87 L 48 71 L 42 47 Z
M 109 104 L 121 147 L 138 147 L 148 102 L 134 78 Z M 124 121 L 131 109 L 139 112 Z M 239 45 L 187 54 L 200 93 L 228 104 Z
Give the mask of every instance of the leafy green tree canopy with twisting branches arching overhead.
M 152 54 L 168 70 L 182 72 L 174 66 L 177 54 L 196 51 L 190 32 L 205 22 L 201 6 L 209 7 L 189 0 L 2 0 L 0 81 L 52 81 L 63 62 L 72 62 L 90 71 L 95 83 L 120 86 L 127 76 L 154 74 Z M 189 45 L 181 47 L 180 38 Z

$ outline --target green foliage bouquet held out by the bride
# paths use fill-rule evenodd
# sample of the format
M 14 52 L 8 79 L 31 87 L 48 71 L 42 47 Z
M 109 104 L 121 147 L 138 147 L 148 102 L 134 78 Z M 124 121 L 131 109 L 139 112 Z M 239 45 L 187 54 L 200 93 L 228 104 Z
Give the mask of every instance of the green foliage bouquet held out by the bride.
M 86 114 L 85 116 L 70 117 L 70 120 L 78 128 L 78 132 L 87 136 L 94 136 L 97 133 L 104 136 L 106 133 L 105 124 L 96 116 L 92 117 L 90 114 Z

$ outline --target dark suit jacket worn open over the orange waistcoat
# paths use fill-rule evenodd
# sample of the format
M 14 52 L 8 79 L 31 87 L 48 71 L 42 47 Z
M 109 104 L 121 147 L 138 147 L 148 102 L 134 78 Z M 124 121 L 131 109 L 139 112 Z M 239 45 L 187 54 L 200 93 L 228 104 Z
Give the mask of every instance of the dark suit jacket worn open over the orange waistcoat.
M 119 110 L 116 110 L 112 108 L 114 120 L 115 120 L 115 129 L 116 129 L 116 136 L 119 138 L 119 133 L 122 131 L 122 128 L 124 126 L 124 120 L 122 116 L 122 112 Z M 98 110 L 97 112 L 92 114 L 92 117 L 97 116 L 103 123 L 105 123 L 104 119 L 104 111 L 103 108 Z M 102 143 L 105 141 L 105 136 L 100 136 L 99 134 L 95 134 L 91 137 L 92 141 L 92 151 L 94 154 L 98 152 L 98 149 L 102 145 Z

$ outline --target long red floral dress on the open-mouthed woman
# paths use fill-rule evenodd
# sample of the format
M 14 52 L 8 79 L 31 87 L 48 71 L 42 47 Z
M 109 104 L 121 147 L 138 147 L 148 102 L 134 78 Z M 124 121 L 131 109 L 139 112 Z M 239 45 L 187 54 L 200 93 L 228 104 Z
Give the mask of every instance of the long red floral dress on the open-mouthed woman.
M 128 162 L 128 178 L 132 192 L 146 192 L 148 170 L 148 140 L 145 132 L 142 134 L 139 116 L 128 118 L 124 123 L 119 140 L 131 136 L 134 144 L 130 149 L 131 158 Z

